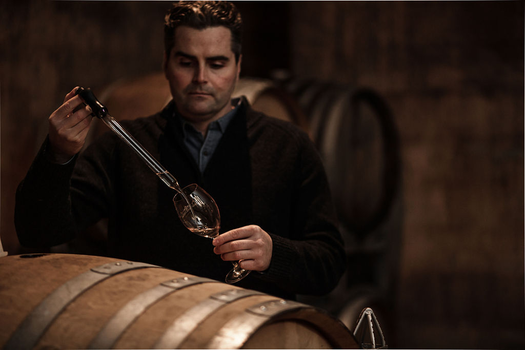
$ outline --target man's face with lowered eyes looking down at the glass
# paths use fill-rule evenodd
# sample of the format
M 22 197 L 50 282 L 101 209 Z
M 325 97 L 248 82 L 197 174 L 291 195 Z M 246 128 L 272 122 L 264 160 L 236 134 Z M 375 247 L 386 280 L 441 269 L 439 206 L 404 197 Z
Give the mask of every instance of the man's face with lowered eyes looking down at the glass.
M 207 125 L 231 109 L 240 71 L 231 40 L 232 33 L 223 26 L 175 29 L 170 56 L 164 54 L 164 73 L 177 109 L 187 120 Z

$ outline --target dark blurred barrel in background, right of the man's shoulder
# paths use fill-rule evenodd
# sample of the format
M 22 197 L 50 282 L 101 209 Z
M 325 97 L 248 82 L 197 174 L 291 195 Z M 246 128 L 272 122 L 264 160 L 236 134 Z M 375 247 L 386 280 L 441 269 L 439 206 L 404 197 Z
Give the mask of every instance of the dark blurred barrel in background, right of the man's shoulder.
M 368 88 L 291 79 L 310 125 L 344 225 L 365 238 L 388 220 L 400 194 L 397 128 L 384 99 Z

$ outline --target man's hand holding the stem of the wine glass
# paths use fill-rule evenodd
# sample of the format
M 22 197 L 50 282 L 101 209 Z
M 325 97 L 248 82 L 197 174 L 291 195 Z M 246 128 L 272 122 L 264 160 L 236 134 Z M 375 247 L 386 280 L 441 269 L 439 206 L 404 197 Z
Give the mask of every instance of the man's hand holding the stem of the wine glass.
M 272 241 L 257 225 L 224 232 L 213 240 L 215 254 L 225 261 L 240 261 L 246 270 L 264 271 L 270 266 Z

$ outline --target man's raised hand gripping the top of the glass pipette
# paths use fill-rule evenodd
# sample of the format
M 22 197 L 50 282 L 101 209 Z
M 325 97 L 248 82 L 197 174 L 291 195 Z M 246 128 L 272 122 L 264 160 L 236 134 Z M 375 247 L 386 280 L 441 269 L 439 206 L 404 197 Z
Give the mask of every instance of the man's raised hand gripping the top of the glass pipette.
M 83 104 L 75 89 L 66 95 L 64 103 L 49 116 L 49 145 L 57 160 L 67 162 L 80 152 L 93 119 L 91 108 Z

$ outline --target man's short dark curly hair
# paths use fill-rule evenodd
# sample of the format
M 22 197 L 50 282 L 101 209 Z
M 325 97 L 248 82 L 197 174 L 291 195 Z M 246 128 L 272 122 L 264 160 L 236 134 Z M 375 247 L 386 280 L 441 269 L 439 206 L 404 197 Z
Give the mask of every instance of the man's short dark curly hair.
M 179 1 L 164 16 L 164 49 L 169 56 L 175 40 L 175 29 L 224 26 L 232 33 L 232 51 L 239 61 L 243 20 L 234 4 L 227 1 Z

